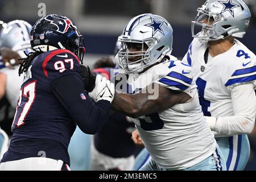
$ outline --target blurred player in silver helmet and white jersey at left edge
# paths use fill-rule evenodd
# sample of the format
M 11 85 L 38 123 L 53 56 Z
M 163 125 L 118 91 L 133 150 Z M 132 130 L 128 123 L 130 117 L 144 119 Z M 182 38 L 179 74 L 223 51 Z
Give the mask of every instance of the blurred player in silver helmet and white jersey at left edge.
M 31 24 L 23 20 L 13 20 L 2 28 L 0 34 L 2 59 L 6 66 L 0 71 L 0 77 L 2 78 L 0 86 L 5 88 L 4 92 L 1 92 L 1 96 L 6 94 L 7 100 L 9 100 L 14 110 L 19 98 L 20 85 L 23 81 L 23 77 L 18 75 L 18 59 L 26 57 L 23 51 L 27 53 L 32 51 L 30 46 L 31 28 Z

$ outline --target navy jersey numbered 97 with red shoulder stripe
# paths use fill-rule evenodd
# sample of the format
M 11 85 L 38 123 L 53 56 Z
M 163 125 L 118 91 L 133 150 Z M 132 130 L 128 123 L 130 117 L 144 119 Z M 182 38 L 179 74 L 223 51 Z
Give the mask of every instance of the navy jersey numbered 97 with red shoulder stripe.
M 48 150 L 46 157 L 62 159 L 69 164 L 68 144 L 75 131 L 76 123 L 52 93 L 51 83 L 64 75 L 79 75 L 79 71 L 79 59 L 67 49 L 48 51 L 35 57 L 24 74 L 24 82 L 20 88 L 18 106 L 11 127 L 13 138 L 9 148 L 13 150 L 5 154 L 2 162 L 24 158 L 22 155 L 36 156 L 43 148 Z M 29 150 L 33 141 L 37 145 L 33 150 L 39 151 L 34 154 L 30 154 L 32 150 L 17 151 L 21 140 L 24 147 L 28 141 Z M 49 147 L 46 146 L 47 143 Z M 53 155 L 54 152 L 49 151 L 54 148 L 53 146 L 60 156 Z

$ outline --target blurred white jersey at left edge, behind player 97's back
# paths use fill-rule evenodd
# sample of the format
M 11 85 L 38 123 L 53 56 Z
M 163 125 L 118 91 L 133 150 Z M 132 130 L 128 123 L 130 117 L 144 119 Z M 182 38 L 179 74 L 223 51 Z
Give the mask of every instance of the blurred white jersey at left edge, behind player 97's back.
M 19 65 L 16 65 L 14 69 L 3 68 L 0 72 L 5 73 L 7 77 L 6 81 L 6 97 L 10 102 L 11 107 L 16 108 L 19 98 L 20 86 L 23 82 L 23 76 L 19 76 Z

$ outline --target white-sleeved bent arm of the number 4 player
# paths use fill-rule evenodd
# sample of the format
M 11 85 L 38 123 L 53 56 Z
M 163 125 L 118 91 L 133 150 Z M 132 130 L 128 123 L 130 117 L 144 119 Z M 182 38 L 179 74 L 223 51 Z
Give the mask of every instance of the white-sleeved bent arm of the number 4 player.
M 231 90 L 234 115 L 207 117 L 214 135 L 249 134 L 253 130 L 256 114 L 256 97 L 253 84 L 237 85 Z

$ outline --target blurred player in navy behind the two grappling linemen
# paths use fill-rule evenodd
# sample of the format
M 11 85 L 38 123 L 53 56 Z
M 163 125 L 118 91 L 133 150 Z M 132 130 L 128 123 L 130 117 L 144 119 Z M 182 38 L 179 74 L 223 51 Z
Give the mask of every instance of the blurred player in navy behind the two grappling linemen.
M 114 53 L 121 48 L 117 42 Z M 110 80 L 118 73 L 114 57 L 102 57 L 94 64 L 93 73 L 101 74 Z M 121 113 L 109 115 L 108 121 L 93 136 L 92 165 L 93 171 L 130 171 L 134 165 L 134 154 L 137 150 L 131 132 L 134 123 Z

